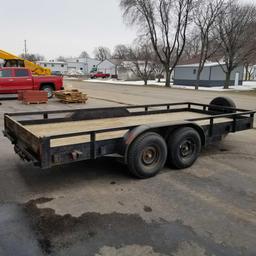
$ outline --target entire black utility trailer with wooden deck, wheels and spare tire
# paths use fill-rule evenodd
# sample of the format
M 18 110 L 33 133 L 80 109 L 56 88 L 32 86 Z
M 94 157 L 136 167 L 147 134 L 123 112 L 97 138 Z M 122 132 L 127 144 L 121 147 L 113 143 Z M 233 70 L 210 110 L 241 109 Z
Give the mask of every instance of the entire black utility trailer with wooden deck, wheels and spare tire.
M 3 132 L 23 160 L 42 169 L 116 156 L 134 176 L 150 178 L 165 164 L 190 167 L 202 147 L 252 129 L 255 112 L 218 97 L 210 104 L 7 113 Z

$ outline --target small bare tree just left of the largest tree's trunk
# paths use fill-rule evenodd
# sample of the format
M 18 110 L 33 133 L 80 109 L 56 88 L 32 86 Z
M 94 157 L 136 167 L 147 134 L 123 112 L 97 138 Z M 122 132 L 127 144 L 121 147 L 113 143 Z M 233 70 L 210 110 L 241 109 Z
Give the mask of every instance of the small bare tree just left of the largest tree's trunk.
M 129 48 L 128 64 L 126 66 L 139 78 L 148 84 L 148 80 L 155 72 L 155 64 L 152 61 L 154 50 L 150 44 L 141 43 Z

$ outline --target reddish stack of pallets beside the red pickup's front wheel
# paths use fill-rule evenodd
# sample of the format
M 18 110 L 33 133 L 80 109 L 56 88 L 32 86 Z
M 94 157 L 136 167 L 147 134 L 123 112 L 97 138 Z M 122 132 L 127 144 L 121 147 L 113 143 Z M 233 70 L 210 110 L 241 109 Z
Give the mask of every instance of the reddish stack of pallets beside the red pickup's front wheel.
M 42 104 L 48 102 L 48 93 L 45 91 L 22 91 L 18 98 L 25 104 Z

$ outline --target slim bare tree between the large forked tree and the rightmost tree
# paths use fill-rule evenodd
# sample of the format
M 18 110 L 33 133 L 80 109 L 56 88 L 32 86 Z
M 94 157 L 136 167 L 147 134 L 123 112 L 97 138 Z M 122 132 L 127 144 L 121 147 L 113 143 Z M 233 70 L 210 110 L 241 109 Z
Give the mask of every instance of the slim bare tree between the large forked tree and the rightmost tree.
M 194 23 L 198 31 L 199 65 L 195 89 L 198 90 L 205 62 L 216 52 L 218 44 L 214 40 L 213 28 L 217 17 L 223 11 L 225 0 L 200 0 L 194 8 Z

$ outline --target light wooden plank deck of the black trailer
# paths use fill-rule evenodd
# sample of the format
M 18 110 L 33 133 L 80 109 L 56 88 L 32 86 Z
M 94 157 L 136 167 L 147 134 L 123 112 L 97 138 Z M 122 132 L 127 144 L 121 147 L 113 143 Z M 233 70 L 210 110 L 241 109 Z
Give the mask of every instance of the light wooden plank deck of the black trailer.
M 138 116 L 127 116 L 119 118 L 104 118 L 95 120 L 82 120 L 82 121 L 71 121 L 71 122 L 58 122 L 48 124 L 35 124 L 25 125 L 25 128 L 33 133 L 37 137 L 48 137 L 61 134 L 71 134 L 76 132 L 89 132 L 100 129 L 117 128 L 136 126 L 143 124 L 154 124 L 163 122 L 179 122 L 188 119 L 209 117 L 207 114 L 201 114 L 191 111 L 163 113 L 163 114 L 147 114 Z M 217 119 L 217 123 L 230 121 L 228 118 Z M 199 125 L 209 124 L 209 120 L 196 122 Z M 127 130 L 105 132 L 96 135 L 96 140 L 106 140 L 121 138 L 125 135 Z M 58 147 L 64 145 L 72 145 L 79 143 L 86 143 L 90 141 L 89 135 L 67 137 L 61 139 L 51 140 L 51 147 Z

